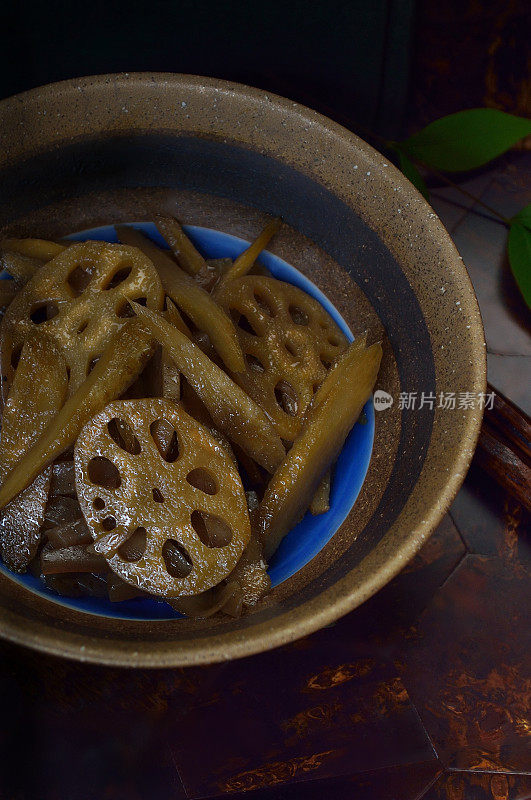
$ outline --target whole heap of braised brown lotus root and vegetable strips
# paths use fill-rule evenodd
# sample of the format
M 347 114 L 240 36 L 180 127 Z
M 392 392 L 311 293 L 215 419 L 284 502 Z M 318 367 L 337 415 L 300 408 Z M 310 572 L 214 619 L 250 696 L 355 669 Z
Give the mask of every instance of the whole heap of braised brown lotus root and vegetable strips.
M 0 330 L 0 546 L 58 594 L 157 597 L 238 616 L 308 508 L 369 398 L 381 346 L 257 257 L 7 239 Z

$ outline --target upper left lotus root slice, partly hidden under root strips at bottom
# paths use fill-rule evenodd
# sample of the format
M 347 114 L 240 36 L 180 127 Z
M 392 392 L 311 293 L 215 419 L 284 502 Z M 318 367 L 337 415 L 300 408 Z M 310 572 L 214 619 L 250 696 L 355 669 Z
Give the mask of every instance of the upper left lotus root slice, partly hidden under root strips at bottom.
M 0 329 L 2 374 L 11 381 L 24 341 L 42 330 L 65 356 L 72 394 L 129 315 L 126 298 L 162 308 L 160 279 L 143 253 L 107 242 L 71 245 L 45 264 L 7 309 Z

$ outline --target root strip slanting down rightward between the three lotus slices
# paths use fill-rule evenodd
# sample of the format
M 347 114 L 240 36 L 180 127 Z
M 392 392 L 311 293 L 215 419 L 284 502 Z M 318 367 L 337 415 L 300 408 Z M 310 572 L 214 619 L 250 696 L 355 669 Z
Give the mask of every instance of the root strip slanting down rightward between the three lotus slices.
M 262 409 L 163 316 L 136 303 L 132 305 L 195 389 L 216 428 L 273 472 L 284 457 L 284 446 Z

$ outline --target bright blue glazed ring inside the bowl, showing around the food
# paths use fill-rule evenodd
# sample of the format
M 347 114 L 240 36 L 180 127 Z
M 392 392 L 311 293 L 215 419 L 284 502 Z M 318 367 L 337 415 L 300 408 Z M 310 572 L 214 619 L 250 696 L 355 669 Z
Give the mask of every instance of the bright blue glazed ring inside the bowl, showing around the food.
M 167 247 L 164 239 L 152 223 L 134 223 L 134 227 L 147 234 L 156 244 Z M 249 245 L 243 239 L 210 228 L 187 225 L 185 230 L 206 258 L 236 258 Z M 110 225 L 72 234 L 67 238 L 73 241 L 86 241 L 87 239 L 107 242 L 117 241 L 116 232 Z M 276 278 L 298 286 L 318 300 L 335 320 L 345 336 L 352 341 L 353 336 L 345 320 L 314 283 L 302 275 L 295 267 L 290 266 L 271 253 L 262 253 L 260 261 Z M 269 576 L 273 586 L 278 586 L 279 583 L 282 583 L 282 581 L 285 581 L 299 569 L 306 566 L 332 538 L 354 505 L 367 474 L 374 441 L 374 406 L 372 400 L 369 400 L 365 405 L 364 412 L 363 422 L 358 422 L 350 432 L 333 468 L 330 510 L 326 514 L 321 514 L 317 517 L 307 513 L 301 522 L 284 538 L 269 565 Z M 43 596 L 92 614 L 137 620 L 172 619 L 180 616 L 167 603 L 147 598 L 111 603 L 110 600 L 95 597 L 59 597 L 54 592 L 46 589 L 41 581 L 33 577 L 33 575 L 16 575 L 10 572 L 3 564 L 0 564 L 0 569 L 14 580 Z

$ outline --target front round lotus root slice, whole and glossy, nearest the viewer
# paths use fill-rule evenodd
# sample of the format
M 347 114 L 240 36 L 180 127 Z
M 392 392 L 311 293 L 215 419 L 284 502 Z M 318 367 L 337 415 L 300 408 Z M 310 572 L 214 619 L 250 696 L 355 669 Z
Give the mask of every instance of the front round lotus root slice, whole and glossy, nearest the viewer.
M 180 406 L 111 403 L 82 430 L 75 465 L 94 549 L 127 583 L 187 596 L 236 566 L 250 538 L 240 476 Z

